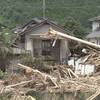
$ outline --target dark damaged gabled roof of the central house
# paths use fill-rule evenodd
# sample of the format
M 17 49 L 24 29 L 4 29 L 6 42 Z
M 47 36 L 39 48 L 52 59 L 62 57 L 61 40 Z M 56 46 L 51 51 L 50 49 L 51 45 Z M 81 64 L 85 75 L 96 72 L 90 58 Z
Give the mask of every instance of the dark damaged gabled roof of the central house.
M 73 35 L 69 30 L 65 30 L 63 27 L 58 25 L 57 23 L 50 21 L 49 19 L 44 18 L 33 18 L 31 21 L 23 25 L 22 27 L 15 28 L 13 31 L 17 33 L 17 37 L 13 40 L 13 43 L 17 40 L 17 38 L 25 33 L 31 32 L 32 30 L 44 25 L 49 24 L 61 30 L 63 33 Z

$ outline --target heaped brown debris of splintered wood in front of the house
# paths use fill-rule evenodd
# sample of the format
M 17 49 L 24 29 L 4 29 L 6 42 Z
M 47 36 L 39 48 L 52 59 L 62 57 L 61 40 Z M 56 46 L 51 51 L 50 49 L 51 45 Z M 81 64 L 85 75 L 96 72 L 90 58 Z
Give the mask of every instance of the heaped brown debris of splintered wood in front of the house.
M 5 86 L 6 89 L 30 88 L 33 91 L 48 91 L 48 92 L 75 92 L 75 91 L 95 91 L 99 86 L 97 80 L 93 77 L 78 77 L 70 68 L 61 65 L 58 66 L 53 73 L 47 74 L 40 72 L 37 69 L 32 69 L 28 66 L 18 64 L 26 70 L 23 80 Z

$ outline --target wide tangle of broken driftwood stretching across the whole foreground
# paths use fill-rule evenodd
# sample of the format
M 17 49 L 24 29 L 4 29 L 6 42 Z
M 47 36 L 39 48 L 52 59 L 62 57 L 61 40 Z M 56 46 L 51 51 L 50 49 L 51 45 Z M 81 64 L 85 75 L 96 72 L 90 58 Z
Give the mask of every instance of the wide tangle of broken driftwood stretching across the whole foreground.
M 11 81 L 8 82 L 8 84 L 6 81 L 1 81 L 0 94 L 13 92 L 19 93 L 20 95 L 25 95 L 29 91 L 46 91 L 50 93 L 75 92 L 75 94 L 79 91 L 97 91 L 95 96 L 100 94 L 98 90 L 100 88 L 99 76 L 96 78 L 79 77 L 74 73 L 71 68 L 69 68 L 69 66 L 64 65 L 56 66 L 55 70 L 53 70 L 50 74 L 41 72 L 37 69 L 32 69 L 22 64 L 18 64 L 18 66 L 25 69 L 24 78 L 22 79 L 22 77 L 13 75 L 9 78 L 9 80 L 6 80 Z

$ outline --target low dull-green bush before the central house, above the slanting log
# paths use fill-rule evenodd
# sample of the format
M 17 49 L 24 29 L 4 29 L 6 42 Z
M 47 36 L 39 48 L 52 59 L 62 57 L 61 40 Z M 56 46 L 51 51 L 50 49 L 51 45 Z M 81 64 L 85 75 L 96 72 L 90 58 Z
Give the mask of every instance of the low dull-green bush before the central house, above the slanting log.
M 31 68 L 36 68 L 40 71 L 49 72 L 50 65 L 48 62 L 43 61 L 43 57 L 32 57 L 30 54 L 23 54 L 20 56 L 20 63 Z

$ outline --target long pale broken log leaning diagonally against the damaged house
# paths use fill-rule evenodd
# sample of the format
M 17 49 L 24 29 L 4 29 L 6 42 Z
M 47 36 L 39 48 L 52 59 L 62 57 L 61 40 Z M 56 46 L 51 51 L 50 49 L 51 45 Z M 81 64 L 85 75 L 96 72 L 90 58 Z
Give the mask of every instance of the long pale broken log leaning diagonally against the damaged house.
M 88 42 L 88 41 L 85 41 L 85 40 L 76 38 L 76 37 L 74 37 L 74 36 L 70 36 L 70 35 L 68 35 L 68 34 L 64 34 L 64 33 L 55 31 L 55 30 L 53 30 L 52 28 L 50 28 L 49 34 L 50 34 L 50 35 L 54 35 L 54 36 L 59 35 L 59 36 L 61 36 L 61 37 L 64 37 L 64 38 L 67 38 L 67 39 L 71 39 L 71 40 L 74 40 L 74 41 L 77 41 L 77 42 L 80 42 L 80 43 L 83 43 L 83 44 L 86 44 L 86 45 L 89 45 L 89 46 L 92 46 L 92 47 L 95 47 L 95 48 L 99 48 L 99 49 L 100 49 L 100 45 L 97 45 L 97 44 L 94 44 L 94 43 L 91 43 L 91 42 Z

